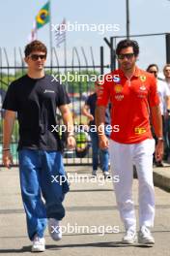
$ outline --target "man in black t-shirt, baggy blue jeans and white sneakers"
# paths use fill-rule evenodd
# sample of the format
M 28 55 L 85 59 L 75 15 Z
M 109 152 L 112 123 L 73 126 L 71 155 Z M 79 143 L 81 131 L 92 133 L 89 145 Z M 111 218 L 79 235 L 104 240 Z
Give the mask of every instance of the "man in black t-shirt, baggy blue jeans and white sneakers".
M 69 191 L 69 185 L 57 129 L 57 108 L 67 127 L 68 146 L 75 146 L 72 117 L 68 107 L 70 99 L 62 84 L 52 81 L 51 76 L 44 74 L 46 53 L 46 47 L 40 41 L 33 41 L 26 46 L 27 75 L 11 83 L 3 103 L 3 109 L 6 110 L 3 163 L 7 168 L 13 163 L 10 142 L 17 112 L 20 187 L 28 236 L 33 241 L 32 251 L 44 251 L 43 232 L 46 219 L 52 239 L 62 238 L 59 220 L 65 216 L 62 202 Z

